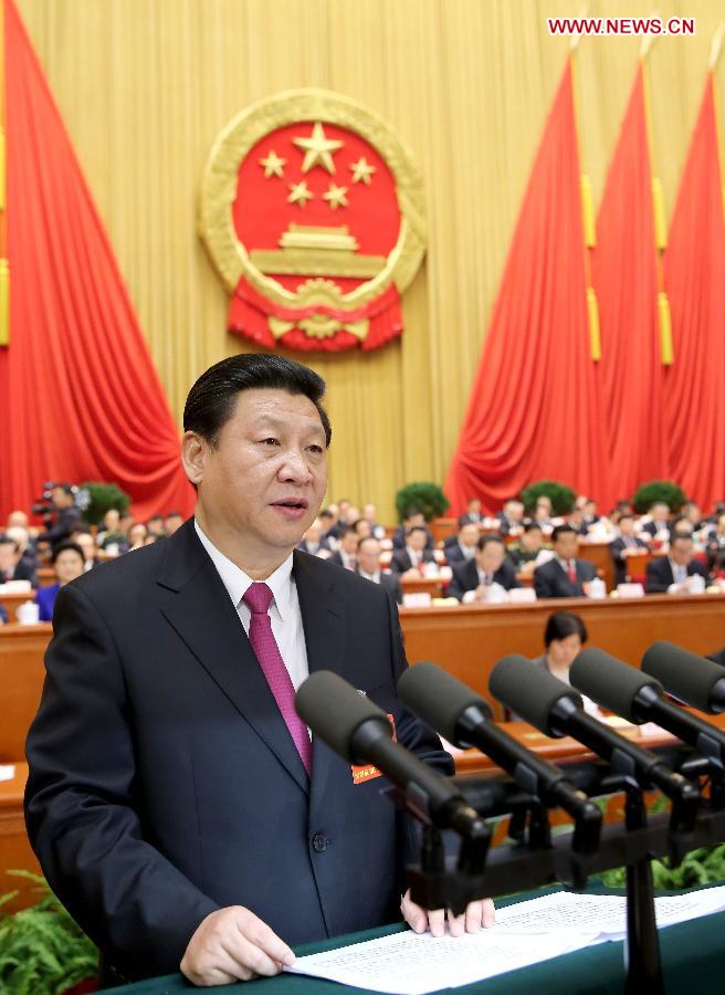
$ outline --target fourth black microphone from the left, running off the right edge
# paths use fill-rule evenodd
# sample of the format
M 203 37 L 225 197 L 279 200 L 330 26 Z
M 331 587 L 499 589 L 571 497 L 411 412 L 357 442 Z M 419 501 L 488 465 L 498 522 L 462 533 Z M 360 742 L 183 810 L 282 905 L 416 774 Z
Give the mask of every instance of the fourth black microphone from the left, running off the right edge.
M 593 647 L 581 650 L 569 675 L 575 688 L 611 712 L 638 724 L 656 722 L 702 756 L 724 766 L 725 733 L 666 701 L 655 678 Z

